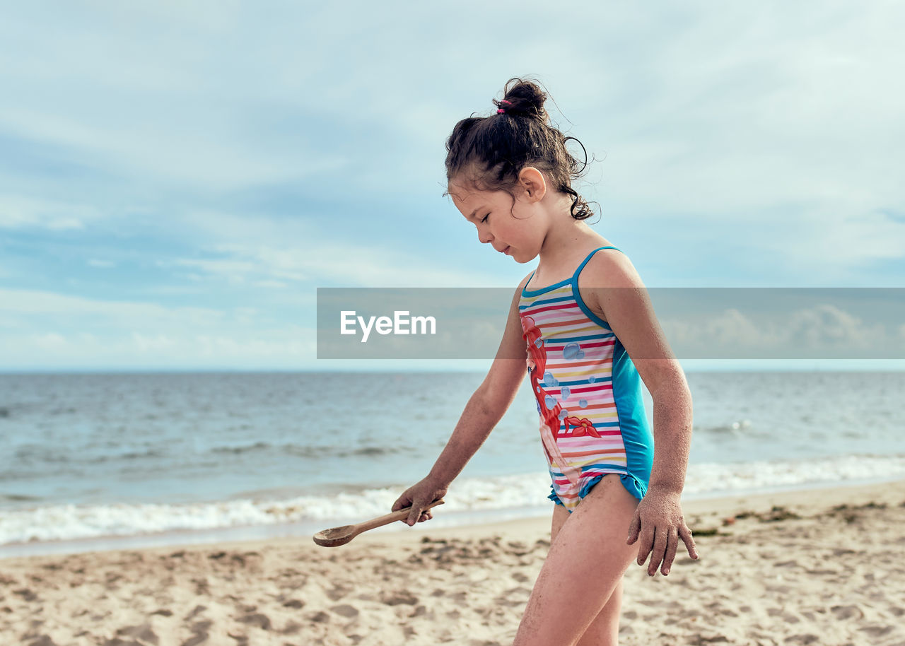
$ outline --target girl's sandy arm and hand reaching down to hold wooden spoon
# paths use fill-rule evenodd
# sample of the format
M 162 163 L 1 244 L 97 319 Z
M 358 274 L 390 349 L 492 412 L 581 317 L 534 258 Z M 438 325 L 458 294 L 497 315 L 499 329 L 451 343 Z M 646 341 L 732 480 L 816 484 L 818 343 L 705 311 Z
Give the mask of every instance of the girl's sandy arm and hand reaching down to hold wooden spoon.
M 491 369 L 465 405 L 459 423 L 433 464 L 433 469 L 424 480 L 406 489 L 393 504 L 394 511 L 412 507 L 405 520 L 409 525 L 432 518 L 430 510 L 424 508 L 446 495 L 452 480 L 491 434 L 519 391 L 519 385 L 525 378 L 527 358 L 525 339 L 521 336 L 519 296 L 528 279 L 529 276 L 526 276 L 519 283 L 519 289 L 512 298 L 506 330 Z

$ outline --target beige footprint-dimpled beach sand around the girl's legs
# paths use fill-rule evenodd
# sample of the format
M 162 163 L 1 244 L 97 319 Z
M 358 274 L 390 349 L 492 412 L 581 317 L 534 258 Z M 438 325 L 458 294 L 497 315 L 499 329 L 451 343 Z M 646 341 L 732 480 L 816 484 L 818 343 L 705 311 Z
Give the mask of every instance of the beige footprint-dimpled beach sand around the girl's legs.
M 700 560 L 629 569 L 621 644 L 905 646 L 905 481 L 684 508 Z M 0 644 L 510 644 L 548 524 L 7 558 Z

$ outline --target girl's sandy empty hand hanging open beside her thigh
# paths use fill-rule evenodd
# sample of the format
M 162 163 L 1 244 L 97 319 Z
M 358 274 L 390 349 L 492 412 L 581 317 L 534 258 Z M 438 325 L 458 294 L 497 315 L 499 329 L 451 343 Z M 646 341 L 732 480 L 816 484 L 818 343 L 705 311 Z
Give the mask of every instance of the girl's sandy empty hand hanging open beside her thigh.
M 651 563 L 647 566 L 647 574 L 655 575 L 662 562 L 662 574 L 670 574 L 672 559 L 676 556 L 679 539 L 685 543 L 688 556 L 698 558 L 698 550 L 691 537 L 691 529 L 685 524 L 681 514 L 680 494 L 653 487 L 647 490 L 644 498 L 634 510 L 632 524 L 628 527 L 628 539 L 632 545 L 639 537 L 638 565 L 644 565 L 647 555 L 651 555 Z

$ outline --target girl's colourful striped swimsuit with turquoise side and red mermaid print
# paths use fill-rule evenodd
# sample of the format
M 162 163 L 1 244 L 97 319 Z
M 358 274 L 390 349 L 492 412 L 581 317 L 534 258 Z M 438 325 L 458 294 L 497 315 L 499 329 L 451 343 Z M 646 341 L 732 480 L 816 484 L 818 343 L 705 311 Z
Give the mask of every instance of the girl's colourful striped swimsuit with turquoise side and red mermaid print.
M 571 279 L 529 290 L 519 298 L 528 344 L 531 389 L 553 492 L 571 513 L 607 473 L 642 499 L 653 464 L 653 436 L 644 413 L 641 378 L 613 330 L 588 307 Z M 616 251 L 619 251 L 616 249 Z

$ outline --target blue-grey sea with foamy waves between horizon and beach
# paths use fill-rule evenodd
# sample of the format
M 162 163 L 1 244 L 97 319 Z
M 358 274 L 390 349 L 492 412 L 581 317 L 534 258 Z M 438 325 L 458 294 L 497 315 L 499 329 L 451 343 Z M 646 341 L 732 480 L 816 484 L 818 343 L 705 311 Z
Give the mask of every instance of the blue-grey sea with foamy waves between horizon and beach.
M 684 499 L 905 478 L 905 372 L 687 376 Z M 0 557 L 310 542 L 384 515 L 431 469 L 483 377 L 0 375 Z M 546 516 L 549 490 L 526 380 L 443 507 L 416 527 Z

